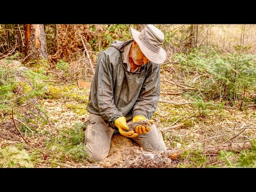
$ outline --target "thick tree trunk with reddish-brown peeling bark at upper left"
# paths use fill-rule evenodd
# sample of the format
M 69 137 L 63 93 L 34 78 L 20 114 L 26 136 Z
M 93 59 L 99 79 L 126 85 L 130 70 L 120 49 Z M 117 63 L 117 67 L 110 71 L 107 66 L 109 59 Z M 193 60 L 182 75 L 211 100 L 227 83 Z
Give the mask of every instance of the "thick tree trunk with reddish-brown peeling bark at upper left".
M 25 45 L 26 61 L 48 60 L 44 25 L 25 25 Z

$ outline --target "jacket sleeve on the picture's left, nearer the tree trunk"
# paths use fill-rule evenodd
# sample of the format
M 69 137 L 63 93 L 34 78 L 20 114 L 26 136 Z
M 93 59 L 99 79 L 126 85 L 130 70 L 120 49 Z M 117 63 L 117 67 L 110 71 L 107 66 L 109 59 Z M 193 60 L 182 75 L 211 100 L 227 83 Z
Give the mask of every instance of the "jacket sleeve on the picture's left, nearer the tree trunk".
M 116 108 L 114 103 L 113 65 L 108 56 L 102 53 L 97 62 L 97 102 L 101 117 L 109 122 L 115 129 L 114 121 L 123 114 Z

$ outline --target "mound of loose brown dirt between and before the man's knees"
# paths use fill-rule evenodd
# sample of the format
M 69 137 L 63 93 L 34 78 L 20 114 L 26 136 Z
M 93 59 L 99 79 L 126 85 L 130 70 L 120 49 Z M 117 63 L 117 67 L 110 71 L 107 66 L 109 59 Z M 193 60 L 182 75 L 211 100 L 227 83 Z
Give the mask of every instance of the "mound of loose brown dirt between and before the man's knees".
M 173 167 L 173 161 L 161 152 L 149 152 L 140 148 L 132 139 L 114 134 L 111 140 L 109 156 L 91 167 L 101 168 L 146 168 Z

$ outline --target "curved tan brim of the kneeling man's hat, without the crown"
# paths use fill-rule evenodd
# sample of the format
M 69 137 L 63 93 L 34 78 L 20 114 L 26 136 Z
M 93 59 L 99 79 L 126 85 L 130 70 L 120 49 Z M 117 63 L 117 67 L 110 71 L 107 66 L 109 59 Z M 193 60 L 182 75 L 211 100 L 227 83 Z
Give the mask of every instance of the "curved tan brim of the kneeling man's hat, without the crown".
M 140 32 L 139 31 L 137 31 L 131 27 L 131 33 L 132 33 L 132 37 L 133 37 L 134 41 L 139 45 L 140 50 L 148 58 L 149 61 L 156 63 L 156 64 L 161 64 L 165 61 L 166 52 L 162 47 L 158 53 L 151 51 L 150 49 L 148 49 L 148 47 L 146 47 L 140 41 L 140 38 L 139 38 Z

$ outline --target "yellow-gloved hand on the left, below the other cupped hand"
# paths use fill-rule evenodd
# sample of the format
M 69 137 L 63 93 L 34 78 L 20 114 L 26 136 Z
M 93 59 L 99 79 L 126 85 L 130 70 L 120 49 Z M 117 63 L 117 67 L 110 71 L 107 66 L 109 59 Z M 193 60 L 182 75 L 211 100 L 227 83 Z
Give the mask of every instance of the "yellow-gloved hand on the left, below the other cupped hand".
M 119 133 L 124 135 L 125 137 L 133 138 L 133 137 L 137 137 L 139 135 L 138 133 L 134 133 L 133 130 L 132 131 L 127 131 L 127 130 L 129 130 L 129 127 L 127 126 L 126 118 L 123 117 L 123 116 L 118 117 L 115 120 L 115 126 L 117 127 Z

